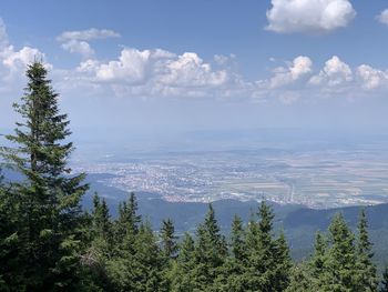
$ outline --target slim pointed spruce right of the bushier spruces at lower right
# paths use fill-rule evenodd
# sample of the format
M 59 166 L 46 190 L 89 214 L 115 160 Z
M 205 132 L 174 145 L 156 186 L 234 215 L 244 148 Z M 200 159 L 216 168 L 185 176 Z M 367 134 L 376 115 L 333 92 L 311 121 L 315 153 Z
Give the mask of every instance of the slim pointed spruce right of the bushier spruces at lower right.
M 369 241 L 368 222 L 363 208 L 359 214 L 357 236 L 357 282 L 360 291 L 376 291 L 377 270 L 372 262 L 372 244 Z

